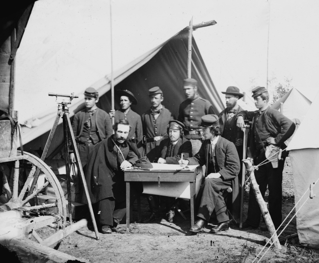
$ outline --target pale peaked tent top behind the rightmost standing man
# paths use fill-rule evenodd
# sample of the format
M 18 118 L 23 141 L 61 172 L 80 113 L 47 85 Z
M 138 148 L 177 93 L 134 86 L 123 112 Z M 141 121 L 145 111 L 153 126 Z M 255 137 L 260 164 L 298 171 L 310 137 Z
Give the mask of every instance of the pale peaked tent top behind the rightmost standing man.
M 290 119 L 297 118 L 300 121 L 303 120 L 311 105 L 311 100 L 296 88 L 289 90 L 271 107 L 279 111 L 281 102 L 284 104 L 283 115 Z

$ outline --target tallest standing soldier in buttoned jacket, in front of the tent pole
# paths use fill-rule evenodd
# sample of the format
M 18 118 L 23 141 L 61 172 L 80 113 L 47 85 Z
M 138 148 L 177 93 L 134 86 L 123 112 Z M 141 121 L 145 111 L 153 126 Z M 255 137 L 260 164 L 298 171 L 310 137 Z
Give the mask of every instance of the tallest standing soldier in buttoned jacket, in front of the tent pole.
M 194 79 L 184 80 L 183 85 L 186 100 L 180 105 L 178 120 L 185 125 L 184 134 L 192 144 L 192 155 L 195 155 L 203 140 L 203 132 L 200 128 L 201 117 L 213 114 L 212 104 L 197 93 L 197 81 Z

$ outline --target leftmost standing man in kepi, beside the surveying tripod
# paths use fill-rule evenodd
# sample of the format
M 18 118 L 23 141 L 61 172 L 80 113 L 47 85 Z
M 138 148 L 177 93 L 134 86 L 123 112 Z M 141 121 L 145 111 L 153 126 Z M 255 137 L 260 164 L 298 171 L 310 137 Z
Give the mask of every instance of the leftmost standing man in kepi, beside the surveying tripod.
M 78 112 L 72 121 L 82 167 L 86 165 L 93 146 L 113 134 L 109 115 L 96 106 L 99 92 L 95 88 L 85 89 L 84 101 L 85 109 Z M 74 153 L 71 149 L 69 151 L 70 162 L 74 163 Z

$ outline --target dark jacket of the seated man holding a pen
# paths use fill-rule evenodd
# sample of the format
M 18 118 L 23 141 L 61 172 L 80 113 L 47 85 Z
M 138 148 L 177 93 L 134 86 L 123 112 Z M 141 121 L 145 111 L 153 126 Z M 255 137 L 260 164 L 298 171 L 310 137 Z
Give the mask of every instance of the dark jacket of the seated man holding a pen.
M 211 159 L 211 140 L 205 140 L 200 148 L 200 150 L 191 158 L 188 158 L 189 165 L 199 164 L 200 166 L 206 165 L 208 167 L 208 162 Z M 235 218 L 239 218 L 239 205 L 237 205 L 240 199 L 239 191 L 239 181 L 238 174 L 240 171 L 240 161 L 235 145 L 226 140 L 225 138 L 219 136 L 217 143 L 215 145 L 215 156 L 217 160 L 217 165 L 220 169 L 218 172 L 223 181 L 232 181 L 232 207 L 228 207 L 230 212 Z M 205 177 L 207 176 L 207 169 Z M 228 203 L 228 202 L 227 202 Z M 236 205 L 235 205 L 236 204 Z

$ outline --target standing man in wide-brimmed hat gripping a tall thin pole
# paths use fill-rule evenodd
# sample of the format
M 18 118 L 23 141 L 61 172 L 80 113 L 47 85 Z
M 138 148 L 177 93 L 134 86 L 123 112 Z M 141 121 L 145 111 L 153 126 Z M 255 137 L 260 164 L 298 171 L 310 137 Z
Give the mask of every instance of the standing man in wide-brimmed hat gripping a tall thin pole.
M 132 111 L 131 105 L 136 105 L 137 100 L 134 97 L 133 93 L 130 90 L 121 90 L 118 89 L 115 91 L 117 95 L 120 96 L 120 110 L 111 110 L 109 113 L 110 117 L 115 117 L 115 122 L 120 119 L 125 119 L 130 123 L 131 130 L 128 139 L 133 143 L 138 144 L 142 141 L 143 128 L 141 117 Z

